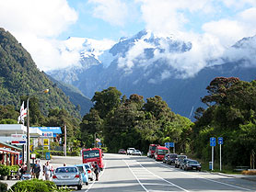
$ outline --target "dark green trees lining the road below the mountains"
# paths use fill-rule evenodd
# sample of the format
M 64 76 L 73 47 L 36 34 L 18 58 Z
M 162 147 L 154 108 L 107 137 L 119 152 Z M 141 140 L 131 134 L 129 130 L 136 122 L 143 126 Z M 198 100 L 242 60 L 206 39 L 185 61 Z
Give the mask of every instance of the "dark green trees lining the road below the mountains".
M 202 97 L 204 107 L 194 113 L 195 122 L 172 112 L 160 96 L 127 97 L 115 87 L 96 92 L 93 107 L 82 119 L 59 108 L 42 115 L 37 98 L 30 98 L 30 120 L 36 126 L 66 124 L 68 141 L 80 141 L 81 147 L 92 147 L 98 137 L 109 152 L 128 147 L 146 152 L 150 143 L 174 141 L 176 152 L 192 153 L 205 161 L 211 159 L 210 138 L 223 137 L 223 164 L 250 165 L 256 147 L 256 81 L 216 77 L 206 89 L 208 95 Z M 0 106 L 0 123 L 16 122 L 17 116 L 15 107 Z

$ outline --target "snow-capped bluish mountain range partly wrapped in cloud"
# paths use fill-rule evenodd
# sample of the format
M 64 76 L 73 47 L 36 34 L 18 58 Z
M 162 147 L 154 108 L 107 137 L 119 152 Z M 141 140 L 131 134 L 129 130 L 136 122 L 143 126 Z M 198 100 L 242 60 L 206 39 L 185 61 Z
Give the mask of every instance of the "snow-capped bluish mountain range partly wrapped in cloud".
M 209 36 L 181 40 L 142 30 L 116 43 L 69 38 L 65 46 L 64 51 L 79 53 L 79 62 L 47 72 L 56 80 L 75 85 L 88 97 L 109 86 L 126 96 L 162 96 L 174 112 L 188 118 L 201 106 L 200 97 L 213 78 L 237 75 L 250 81 L 256 66 L 255 36 L 226 48 Z

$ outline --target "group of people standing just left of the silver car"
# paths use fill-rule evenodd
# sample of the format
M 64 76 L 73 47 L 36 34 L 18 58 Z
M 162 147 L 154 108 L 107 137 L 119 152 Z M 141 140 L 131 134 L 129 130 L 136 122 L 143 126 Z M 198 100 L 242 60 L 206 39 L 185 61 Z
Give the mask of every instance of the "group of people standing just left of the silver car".
M 43 164 L 42 166 L 42 175 L 45 177 L 45 180 L 50 180 L 50 177 L 52 176 L 53 168 L 50 166 L 49 162 L 47 161 L 46 164 Z M 23 163 L 19 166 L 19 173 L 20 178 L 22 178 L 22 175 L 26 174 L 27 172 L 27 164 Z M 33 178 L 39 178 L 41 174 L 41 163 L 40 160 L 36 160 L 35 164 L 33 164 L 31 168 L 31 174 Z

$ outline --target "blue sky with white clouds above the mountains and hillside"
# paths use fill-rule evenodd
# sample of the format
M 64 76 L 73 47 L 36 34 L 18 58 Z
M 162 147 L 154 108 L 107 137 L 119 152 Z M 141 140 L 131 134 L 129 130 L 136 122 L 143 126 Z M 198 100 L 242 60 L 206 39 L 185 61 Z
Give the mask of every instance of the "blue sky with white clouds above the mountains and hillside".
M 211 51 L 208 45 L 222 51 L 256 35 L 255 17 L 255 0 L 0 0 L 0 27 L 44 71 L 77 60 L 78 52 L 60 52 L 68 37 L 112 44 L 147 29 L 192 41 L 199 51 Z

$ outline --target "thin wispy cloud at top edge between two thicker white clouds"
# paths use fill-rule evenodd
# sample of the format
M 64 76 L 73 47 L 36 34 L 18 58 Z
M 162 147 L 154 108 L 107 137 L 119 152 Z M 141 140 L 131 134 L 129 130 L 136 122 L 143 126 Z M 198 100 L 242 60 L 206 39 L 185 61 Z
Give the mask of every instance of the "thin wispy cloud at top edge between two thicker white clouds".
M 88 0 L 94 4 L 93 16 L 114 26 L 123 26 L 128 19 L 128 6 L 122 0 Z

